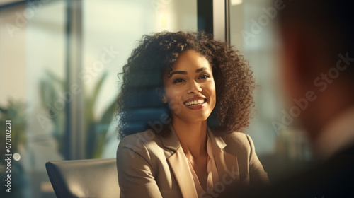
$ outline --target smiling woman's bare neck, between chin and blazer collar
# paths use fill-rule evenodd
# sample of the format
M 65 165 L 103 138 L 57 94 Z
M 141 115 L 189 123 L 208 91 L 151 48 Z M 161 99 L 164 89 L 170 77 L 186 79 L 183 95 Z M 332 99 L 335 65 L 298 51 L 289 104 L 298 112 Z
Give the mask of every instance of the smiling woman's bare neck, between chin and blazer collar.
M 172 120 L 186 156 L 203 156 L 207 153 L 207 121 L 186 123 L 178 118 Z

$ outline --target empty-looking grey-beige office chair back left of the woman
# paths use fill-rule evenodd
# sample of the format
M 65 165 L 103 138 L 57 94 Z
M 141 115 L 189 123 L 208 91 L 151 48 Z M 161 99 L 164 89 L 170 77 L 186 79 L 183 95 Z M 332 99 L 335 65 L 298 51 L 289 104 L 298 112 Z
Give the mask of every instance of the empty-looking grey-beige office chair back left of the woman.
M 45 168 L 58 198 L 120 197 L 115 159 L 49 161 Z

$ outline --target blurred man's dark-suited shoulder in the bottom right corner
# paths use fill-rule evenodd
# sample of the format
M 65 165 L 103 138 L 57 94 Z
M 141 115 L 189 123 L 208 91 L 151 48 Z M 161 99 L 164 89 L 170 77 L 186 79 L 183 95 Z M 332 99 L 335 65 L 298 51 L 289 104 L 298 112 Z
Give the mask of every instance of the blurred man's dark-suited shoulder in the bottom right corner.
M 290 194 L 290 197 L 353 197 L 353 167 L 354 146 L 351 146 L 327 161 L 275 184 L 271 192 L 284 197 Z

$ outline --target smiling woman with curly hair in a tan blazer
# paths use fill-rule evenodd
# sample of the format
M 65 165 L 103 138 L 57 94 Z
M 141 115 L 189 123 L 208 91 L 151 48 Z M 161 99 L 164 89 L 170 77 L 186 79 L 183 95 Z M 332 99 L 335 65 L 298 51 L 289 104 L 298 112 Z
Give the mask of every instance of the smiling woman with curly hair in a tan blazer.
M 255 82 L 238 51 L 205 33 L 144 35 L 122 74 L 122 197 L 217 197 L 228 186 L 268 183 L 242 133 Z

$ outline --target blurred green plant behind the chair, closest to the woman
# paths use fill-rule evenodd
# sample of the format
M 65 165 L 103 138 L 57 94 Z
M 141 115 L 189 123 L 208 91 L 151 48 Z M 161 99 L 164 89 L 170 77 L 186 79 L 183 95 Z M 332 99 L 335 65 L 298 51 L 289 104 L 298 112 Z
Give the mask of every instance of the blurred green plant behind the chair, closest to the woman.
M 58 76 L 50 71 L 46 71 L 46 78 L 40 81 L 40 98 L 42 106 L 47 108 L 47 104 L 54 104 L 58 98 L 59 93 L 64 93 L 67 82 L 60 79 Z M 108 141 L 107 132 L 110 126 L 110 122 L 113 119 L 114 112 L 117 109 L 116 103 L 113 101 L 103 112 L 103 115 L 99 118 L 95 118 L 94 106 L 96 100 L 102 89 L 103 82 L 107 76 L 104 73 L 101 78 L 98 79 L 98 83 L 93 88 L 91 95 L 87 94 L 84 88 L 84 126 L 86 129 L 86 141 L 85 141 L 85 157 L 86 158 L 100 158 L 103 152 L 103 148 Z M 53 112 L 54 113 L 54 112 Z M 54 125 L 53 136 L 57 139 L 59 145 L 59 152 L 64 153 L 64 110 L 55 112 L 55 116 L 50 117 L 52 124 Z

